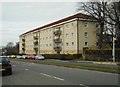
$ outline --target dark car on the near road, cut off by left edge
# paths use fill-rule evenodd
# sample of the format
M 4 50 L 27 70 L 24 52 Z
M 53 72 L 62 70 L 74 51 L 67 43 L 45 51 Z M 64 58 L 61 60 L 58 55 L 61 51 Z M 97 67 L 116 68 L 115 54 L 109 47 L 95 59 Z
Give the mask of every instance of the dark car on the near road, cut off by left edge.
M 12 75 L 12 64 L 7 56 L 0 56 L 0 72 Z

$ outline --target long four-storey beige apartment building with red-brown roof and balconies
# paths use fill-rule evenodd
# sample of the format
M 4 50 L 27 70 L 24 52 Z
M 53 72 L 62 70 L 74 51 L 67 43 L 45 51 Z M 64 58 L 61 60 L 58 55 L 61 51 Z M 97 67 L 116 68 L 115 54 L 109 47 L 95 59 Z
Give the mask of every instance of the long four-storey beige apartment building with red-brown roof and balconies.
M 97 47 L 96 20 L 78 13 L 20 35 L 20 54 L 82 54 Z

